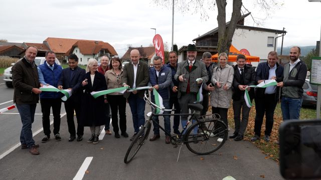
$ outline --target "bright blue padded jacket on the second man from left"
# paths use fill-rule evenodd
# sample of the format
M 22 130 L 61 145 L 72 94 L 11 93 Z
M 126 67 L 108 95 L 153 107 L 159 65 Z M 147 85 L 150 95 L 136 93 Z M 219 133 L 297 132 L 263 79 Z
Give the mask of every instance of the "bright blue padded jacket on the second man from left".
M 58 80 L 60 78 L 62 67 L 61 65 L 54 63 L 54 70 L 51 70 L 51 68 L 47 65 L 47 63 L 43 63 L 39 65 L 39 68 L 42 71 L 42 74 L 44 75 L 45 81 L 53 85 L 55 87 L 58 86 Z M 62 93 L 60 92 L 41 92 L 40 98 L 60 98 L 62 96 Z

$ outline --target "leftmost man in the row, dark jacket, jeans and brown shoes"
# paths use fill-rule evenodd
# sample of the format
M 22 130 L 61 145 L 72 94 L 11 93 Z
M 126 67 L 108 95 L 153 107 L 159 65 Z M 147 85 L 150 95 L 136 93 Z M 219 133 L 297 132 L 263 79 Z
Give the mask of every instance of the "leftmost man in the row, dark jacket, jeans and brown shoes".
M 35 119 L 36 106 L 39 101 L 39 77 L 35 58 L 37 47 L 29 46 L 26 55 L 12 67 L 14 102 L 21 116 L 22 129 L 20 133 L 21 148 L 29 148 L 31 154 L 37 155 L 38 144 L 32 136 L 31 126 Z

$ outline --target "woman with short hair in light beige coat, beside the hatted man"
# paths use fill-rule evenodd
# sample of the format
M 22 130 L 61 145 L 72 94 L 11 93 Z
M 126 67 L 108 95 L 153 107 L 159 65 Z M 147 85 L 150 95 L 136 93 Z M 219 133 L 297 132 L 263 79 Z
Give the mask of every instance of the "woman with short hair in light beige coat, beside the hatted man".
M 231 65 L 227 64 L 227 54 L 220 53 L 218 56 L 219 66 L 213 69 L 211 82 L 214 84 L 215 89 L 211 93 L 212 112 L 218 113 L 221 120 L 228 125 L 227 110 L 230 107 L 232 99 L 232 82 L 234 77 L 234 69 Z

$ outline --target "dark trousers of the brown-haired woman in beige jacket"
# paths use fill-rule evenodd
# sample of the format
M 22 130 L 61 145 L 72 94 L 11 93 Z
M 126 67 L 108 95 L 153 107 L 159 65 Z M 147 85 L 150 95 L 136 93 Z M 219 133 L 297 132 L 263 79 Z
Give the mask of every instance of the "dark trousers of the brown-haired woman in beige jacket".
M 111 123 L 114 132 L 126 132 L 126 98 L 123 95 L 107 95 L 111 108 Z M 119 111 L 119 127 L 118 127 L 118 111 Z

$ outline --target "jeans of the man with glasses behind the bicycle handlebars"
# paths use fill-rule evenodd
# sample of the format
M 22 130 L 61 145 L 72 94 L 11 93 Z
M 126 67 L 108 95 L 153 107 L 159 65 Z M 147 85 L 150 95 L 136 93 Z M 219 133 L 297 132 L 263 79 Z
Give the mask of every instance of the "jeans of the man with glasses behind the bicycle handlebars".
M 153 103 L 155 103 L 155 102 L 153 101 Z M 170 109 L 169 100 L 164 100 L 163 105 L 166 109 Z M 163 114 L 169 114 L 169 113 L 171 113 L 171 111 L 164 111 Z M 164 117 L 164 128 L 165 128 L 166 132 L 171 134 L 171 116 L 170 115 L 163 115 L 163 117 Z M 152 124 L 154 126 L 154 128 L 152 130 L 154 131 L 155 135 L 159 134 L 159 125 L 157 124 L 157 123 L 159 123 L 158 115 L 152 116 L 152 120 L 153 120 Z M 154 121 L 157 123 L 155 123 Z M 165 135 L 166 135 L 166 133 L 165 133 Z

